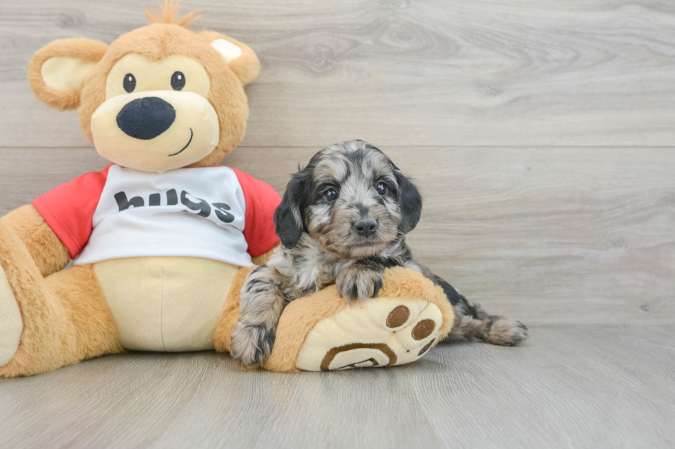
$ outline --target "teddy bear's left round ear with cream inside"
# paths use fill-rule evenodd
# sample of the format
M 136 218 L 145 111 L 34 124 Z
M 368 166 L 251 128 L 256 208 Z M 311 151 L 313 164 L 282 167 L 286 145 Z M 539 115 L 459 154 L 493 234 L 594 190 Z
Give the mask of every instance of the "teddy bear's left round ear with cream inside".
M 60 39 L 42 47 L 28 65 L 33 93 L 51 107 L 65 111 L 80 104 L 80 91 L 107 45 L 92 39 Z

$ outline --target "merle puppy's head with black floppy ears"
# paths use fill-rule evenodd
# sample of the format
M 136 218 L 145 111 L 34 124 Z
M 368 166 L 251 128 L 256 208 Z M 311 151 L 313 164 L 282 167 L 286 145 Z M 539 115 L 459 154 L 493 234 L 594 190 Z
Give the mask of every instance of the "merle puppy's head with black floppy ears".
M 422 197 L 379 149 L 362 140 L 333 144 L 295 173 L 274 214 L 277 234 L 293 248 L 308 232 L 349 259 L 380 254 L 417 225 Z

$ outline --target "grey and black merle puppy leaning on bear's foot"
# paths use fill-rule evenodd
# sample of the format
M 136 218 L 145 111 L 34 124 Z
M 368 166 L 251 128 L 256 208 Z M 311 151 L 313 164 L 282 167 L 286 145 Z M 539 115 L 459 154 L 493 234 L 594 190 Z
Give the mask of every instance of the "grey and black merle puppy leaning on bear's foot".
M 379 149 L 362 140 L 331 145 L 293 175 L 274 214 L 282 245 L 242 287 L 231 354 L 243 366 L 269 357 L 284 305 L 335 283 L 348 301 L 377 296 L 396 265 L 440 285 L 455 311 L 448 339 L 511 346 L 527 338 L 518 321 L 488 315 L 421 265 L 406 245 L 422 213 L 417 188 Z

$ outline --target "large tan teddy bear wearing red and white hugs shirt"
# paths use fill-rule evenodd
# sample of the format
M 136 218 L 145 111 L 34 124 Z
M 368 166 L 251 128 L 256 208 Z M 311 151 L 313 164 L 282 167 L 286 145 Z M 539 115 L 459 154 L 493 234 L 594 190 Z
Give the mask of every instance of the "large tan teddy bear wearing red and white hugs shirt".
M 279 244 L 278 194 L 220 165 L 244 137 L 256 54 L 189 30 L 195 12 L 161 9 L 110 45 L 63 39 L 30 61 L 35 96 L 77 109 L 110 165 L 0 219 L 0 375 L 126 350 L 227 352 L 242 284 Z M 346 303 L 334 285 L 293 301 L 263 367 L 413 362 L 453 317 L 440 287 L 395 267 L 363 303 Z

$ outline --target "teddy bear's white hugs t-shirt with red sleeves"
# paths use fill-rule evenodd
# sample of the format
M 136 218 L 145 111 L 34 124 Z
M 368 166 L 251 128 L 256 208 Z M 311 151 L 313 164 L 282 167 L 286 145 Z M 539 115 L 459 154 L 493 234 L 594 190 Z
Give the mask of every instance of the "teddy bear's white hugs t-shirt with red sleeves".
M 279 243 L 269 220 L 279 201 L 268 184 L 236 168 L 148 173 L 112 164 L 50 190 L 32 205 L 74 265 L 191 256 L 249 267 L 251 256 Z

